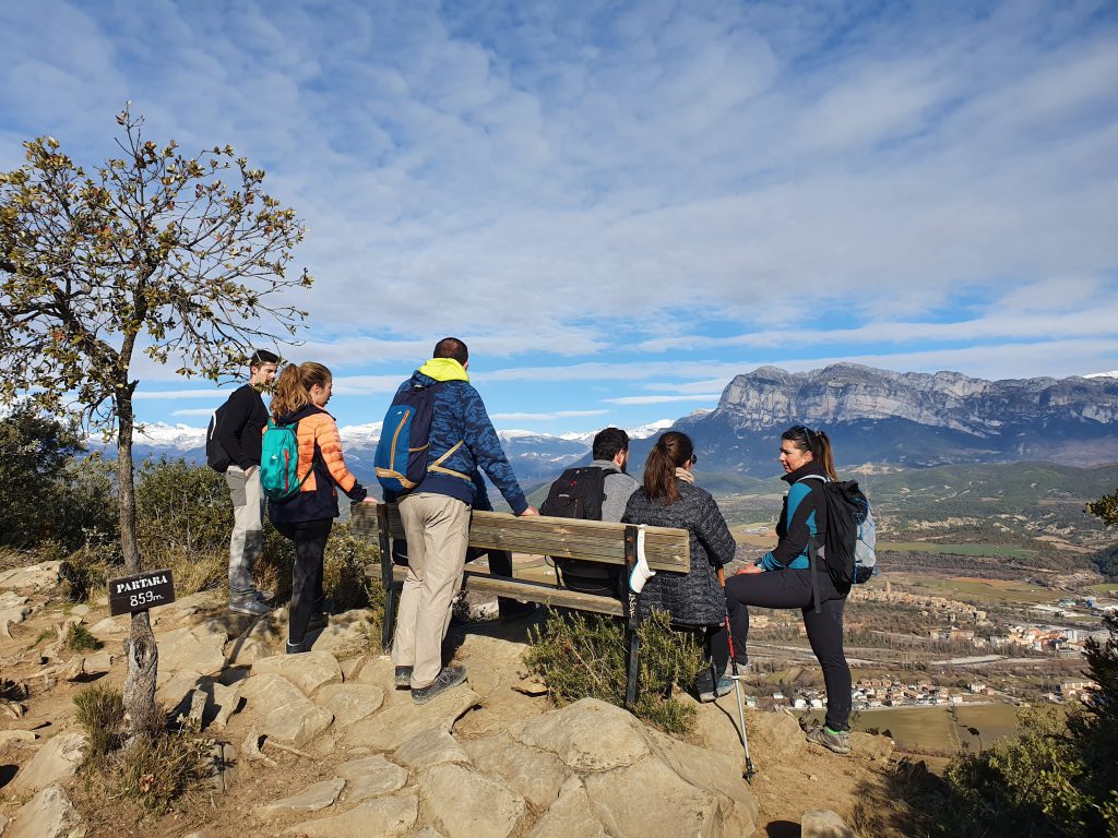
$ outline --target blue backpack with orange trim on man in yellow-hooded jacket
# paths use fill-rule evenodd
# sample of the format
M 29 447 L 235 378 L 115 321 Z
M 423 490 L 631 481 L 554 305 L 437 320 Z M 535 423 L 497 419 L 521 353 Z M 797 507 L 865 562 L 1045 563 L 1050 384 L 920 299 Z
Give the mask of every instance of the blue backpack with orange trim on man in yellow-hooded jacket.
M 429 470 L 449 472 L 439 466 L 458 449 L 461 440 L 437 460 L 427 463 L 430 420 L 435 413 L 435 390 L 442 383 L 444 382 L 439 381 L 430 387 L 411 384 L 397 393 L 385 415 L 372 463 L 377 479 L 389 492 L 414 489 L 423 483 Z

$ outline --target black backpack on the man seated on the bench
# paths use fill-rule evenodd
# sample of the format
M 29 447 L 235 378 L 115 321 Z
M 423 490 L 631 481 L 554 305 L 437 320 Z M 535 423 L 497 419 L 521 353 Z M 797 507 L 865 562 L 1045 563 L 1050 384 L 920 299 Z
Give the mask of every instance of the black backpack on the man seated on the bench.
M 547 499 L 540 504 L 540 514 L 557 518 L 601 521 L 606 475 L 613 473 L 614 469 L 599 466 L 568 468 L 551 484 Z M 570 590 L 607 597 L 616 596 L 619 565 L 574 561 L 561 556 L 556 556 L 555 563 L 562 584 Z

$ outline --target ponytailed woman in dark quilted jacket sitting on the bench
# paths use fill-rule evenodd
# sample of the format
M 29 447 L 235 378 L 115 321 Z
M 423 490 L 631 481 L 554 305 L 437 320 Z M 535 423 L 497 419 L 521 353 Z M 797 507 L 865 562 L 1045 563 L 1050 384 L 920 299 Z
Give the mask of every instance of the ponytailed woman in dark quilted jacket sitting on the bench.
M 691 537 L 691 570 L 657 573 L 641 591 L 641 616 L 667 611 L 672 625 L 701 635 L 707 655 L 720 674 L 708 668 L 699 678 L 699 696 L 714 701 L 730 692 L 732 682 L 722 677 L 730 659 L 726 628 L 727 598 L 719 584 L 719 571 L 733 559 L 735 543 L 726 518 L 710 493 L 694 485 L 691 469 L 698 457 L 686 434 L 670 430 L 656 441 L 644 466 L 644 486 L 629 497 L 625 524 L 648 524 L 686 530 Z

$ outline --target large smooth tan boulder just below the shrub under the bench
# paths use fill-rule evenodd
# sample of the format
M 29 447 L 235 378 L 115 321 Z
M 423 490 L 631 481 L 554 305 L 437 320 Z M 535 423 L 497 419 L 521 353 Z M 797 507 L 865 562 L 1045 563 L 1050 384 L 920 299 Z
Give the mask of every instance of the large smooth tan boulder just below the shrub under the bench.
M 549 751 L 576 771 L 609 771 L 648 755 L 644 725 L 631 713 L 597 698 L 514 726 L 512 739 Z

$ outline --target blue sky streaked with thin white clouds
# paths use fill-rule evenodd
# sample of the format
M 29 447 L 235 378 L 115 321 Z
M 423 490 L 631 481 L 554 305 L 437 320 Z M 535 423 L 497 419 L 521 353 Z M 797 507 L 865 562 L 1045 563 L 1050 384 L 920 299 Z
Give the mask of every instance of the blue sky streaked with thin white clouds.
M 761 364 L 1118 369 L 1112 1 L 6 0 L 0 51 L 0 168 L 104 160 L 131 99 L 268 171 L 343 423 L 446 334 L 544 432 Z M 203 425 L 172 369 L 140 418 Z

